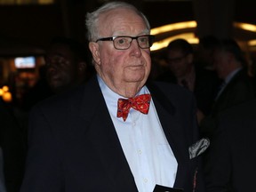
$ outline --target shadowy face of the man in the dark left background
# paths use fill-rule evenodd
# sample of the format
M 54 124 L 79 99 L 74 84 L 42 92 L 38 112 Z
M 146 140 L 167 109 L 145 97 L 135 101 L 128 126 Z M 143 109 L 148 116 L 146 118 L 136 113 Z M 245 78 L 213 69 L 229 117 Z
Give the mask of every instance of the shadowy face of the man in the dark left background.
M 46 53 L 46 78 L 53 92 L 61 92 L 75 84 L 75 59 L 68 46 L 54 44 Z

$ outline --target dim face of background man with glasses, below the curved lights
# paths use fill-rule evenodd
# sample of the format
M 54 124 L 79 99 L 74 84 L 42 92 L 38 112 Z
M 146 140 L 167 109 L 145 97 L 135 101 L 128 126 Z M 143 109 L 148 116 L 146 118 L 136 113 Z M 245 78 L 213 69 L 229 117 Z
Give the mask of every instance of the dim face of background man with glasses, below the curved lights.
M 192 61 L 188 55 L 185 55 L 180 50 L 168 51 L 168 66 L 176 77 L 186 76 L 192 68 Z

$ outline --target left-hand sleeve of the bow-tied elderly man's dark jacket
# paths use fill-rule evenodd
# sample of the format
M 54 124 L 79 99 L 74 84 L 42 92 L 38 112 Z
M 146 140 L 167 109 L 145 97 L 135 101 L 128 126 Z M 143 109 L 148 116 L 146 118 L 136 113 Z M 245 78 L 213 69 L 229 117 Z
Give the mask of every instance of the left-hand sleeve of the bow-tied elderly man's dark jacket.
M 56 135 L 40 108 L 29 116 L 28 156 L 20 192 L 58 192 L 62 183 Z

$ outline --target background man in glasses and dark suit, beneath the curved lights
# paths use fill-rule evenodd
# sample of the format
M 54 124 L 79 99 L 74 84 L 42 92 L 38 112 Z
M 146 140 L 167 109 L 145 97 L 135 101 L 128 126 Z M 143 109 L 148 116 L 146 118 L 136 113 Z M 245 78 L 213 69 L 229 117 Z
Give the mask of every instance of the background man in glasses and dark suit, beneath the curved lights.
M 197 119 L 200 122 L 204 116 L 210 114 L 219 78 L 213 71 L 198 67 L 194 48 L 185 39 L 175 39 L 168 44 L 167 66 L 170 71 L 164 73 L 165 77 L 162 76 L 162 79 L 169 78 L 170 82 L 194 93 L 198 108 Z

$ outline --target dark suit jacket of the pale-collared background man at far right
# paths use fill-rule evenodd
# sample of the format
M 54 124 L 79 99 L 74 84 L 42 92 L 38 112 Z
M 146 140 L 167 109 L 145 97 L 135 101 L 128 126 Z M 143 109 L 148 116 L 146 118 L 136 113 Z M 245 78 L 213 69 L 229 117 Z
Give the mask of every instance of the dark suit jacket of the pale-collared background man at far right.
M 212 139 L 216 130 L 216 116 L 228 108 L 243 103 L 246 100 L 252 100 L 255 97 L 252 79 L 247 75 L 244 69 L 237 72 L 231 81 L 227 84 L 223 92 L 212 107 L 212 112 L 201 122 L 201 133 L 204 137 Z

